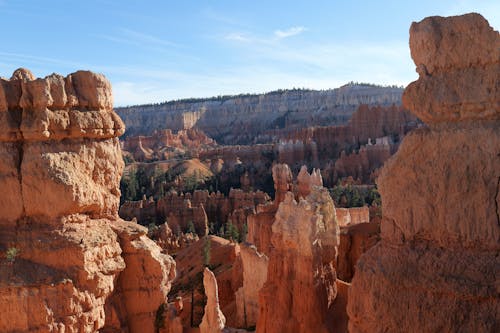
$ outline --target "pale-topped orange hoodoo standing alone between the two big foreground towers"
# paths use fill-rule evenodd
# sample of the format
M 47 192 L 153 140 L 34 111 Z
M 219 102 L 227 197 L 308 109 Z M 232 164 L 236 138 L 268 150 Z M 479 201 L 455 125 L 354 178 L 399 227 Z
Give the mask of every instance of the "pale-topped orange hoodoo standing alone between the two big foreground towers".
M 329 330 L 339 229 L 328 191 L 312 185 L 307 192 L 298 201 L 286 192 L 276 212 L 267 281 L 259 295 L 259 332 Z

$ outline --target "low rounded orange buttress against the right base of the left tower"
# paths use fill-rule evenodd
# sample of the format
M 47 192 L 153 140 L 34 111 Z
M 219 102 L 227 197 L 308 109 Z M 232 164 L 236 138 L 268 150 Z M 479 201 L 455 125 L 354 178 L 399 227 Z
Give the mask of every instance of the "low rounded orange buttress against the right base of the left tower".
M 157 312 L 164 306 L 175 278 L 175 262 L 147 237 L 146 228 L 125 221 L 115 222 L 112 228 L 126 267 L 106 304 L 103 331 L 154 332 L 158 328 Z

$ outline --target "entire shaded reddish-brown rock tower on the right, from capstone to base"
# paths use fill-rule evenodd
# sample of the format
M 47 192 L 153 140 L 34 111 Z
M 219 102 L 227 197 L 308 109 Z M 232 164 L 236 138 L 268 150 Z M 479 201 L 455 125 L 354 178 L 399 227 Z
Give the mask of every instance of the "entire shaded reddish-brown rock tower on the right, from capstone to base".
M 500 36 L 478 14 L 429 17 L 410 48 L 403 100 L 429 127 L 380 174 L 382 240 L 356 267 L 349 331 L 496 331 Z

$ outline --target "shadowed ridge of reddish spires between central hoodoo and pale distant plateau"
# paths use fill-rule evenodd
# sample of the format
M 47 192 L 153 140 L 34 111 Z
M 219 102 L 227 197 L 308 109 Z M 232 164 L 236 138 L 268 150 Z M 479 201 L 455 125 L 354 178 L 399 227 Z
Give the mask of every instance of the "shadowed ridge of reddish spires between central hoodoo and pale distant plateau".
M 219 146 L 199 156 L 217 163 L 217 174 L 231 174 L 236 166 L 244 168 L 246 183 L 253 188 L 267 188 L 262 180 L 269 179 L 269 166 L 274 163 L 285 163 L 294 172 L 302 165 L 320 168 L 328 186 L 349 176 L 373 183 L 374 171 L 395 153 L 404 135 L 418 125 L 416 117 L 402 107 L 361 105 L 346 125 L 268 131 L 255 140 L 273 143 Z

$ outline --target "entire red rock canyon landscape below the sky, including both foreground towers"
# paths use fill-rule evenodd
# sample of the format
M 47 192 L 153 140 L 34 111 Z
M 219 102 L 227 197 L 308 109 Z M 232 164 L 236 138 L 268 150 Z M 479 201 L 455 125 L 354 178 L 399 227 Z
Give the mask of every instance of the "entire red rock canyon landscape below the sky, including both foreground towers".
M 101 74 L 0 78 L 0 331 L 498 331 L 500 35 L 409 45 L 404 92 L 113 109 Z

